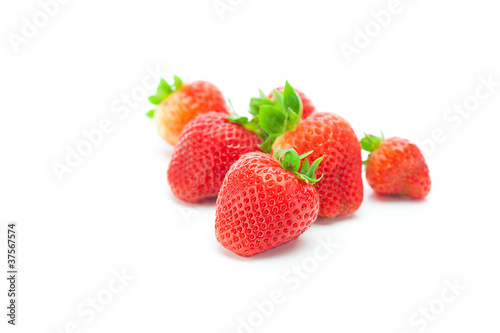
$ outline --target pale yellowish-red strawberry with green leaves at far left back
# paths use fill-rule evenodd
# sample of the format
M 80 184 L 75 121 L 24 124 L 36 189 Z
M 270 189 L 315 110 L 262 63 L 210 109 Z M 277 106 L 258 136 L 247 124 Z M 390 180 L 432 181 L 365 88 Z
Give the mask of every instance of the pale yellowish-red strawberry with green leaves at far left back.
M 156 95 L 149 101 L 158 106 L 147 116 L 154 117 L 158 133 L 171 145 L 177 143 L 184 126 L 197 115 L 210 111 L 228 114 L 226 101 L 216 86 L 205 81 L 184 84 L 175 75 L 173 85 L 161 79 Z

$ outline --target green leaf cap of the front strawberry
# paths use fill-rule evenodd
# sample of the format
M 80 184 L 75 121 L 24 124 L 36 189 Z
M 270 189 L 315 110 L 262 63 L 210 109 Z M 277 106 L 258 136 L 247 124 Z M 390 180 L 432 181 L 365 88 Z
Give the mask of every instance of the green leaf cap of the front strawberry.
M 324 156 L 321 156 L 316 161 L 314 161 L 313 164 L 309 165 L 309 160 L 306 159 L 306 157 L 312 153 L 313 151 L 311 150 L 310 152 L 304 153 L 299 156 L 299 153 L 297 153 L 297 151 L 293 148 L 281 150 L 275 149 L 273 152 L 273 157 L 278 160 L 283 170 L 290 171 L 295 176 L 297 176 L 297 178 L 305 181 L 306 183 L 314 185 L 315 183 L 320 181 L 321 178 L 323 178 L 323 175 L 317 178 L 314 172 L 318 168 L 318 165 L 321 163 Z M 304 161 L 301 165 L 302 160 Z

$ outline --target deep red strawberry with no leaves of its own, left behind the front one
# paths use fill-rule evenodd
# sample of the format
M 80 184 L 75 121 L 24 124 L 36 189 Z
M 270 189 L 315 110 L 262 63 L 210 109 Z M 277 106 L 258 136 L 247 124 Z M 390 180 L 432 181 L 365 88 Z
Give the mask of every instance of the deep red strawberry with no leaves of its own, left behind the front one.
M 243 154 L 258 151 L 259 137 L 220 112 L 204 113 L 183 129 L 168 167 L 174 195 L 187 202 L 215 197 L 229 167 Z

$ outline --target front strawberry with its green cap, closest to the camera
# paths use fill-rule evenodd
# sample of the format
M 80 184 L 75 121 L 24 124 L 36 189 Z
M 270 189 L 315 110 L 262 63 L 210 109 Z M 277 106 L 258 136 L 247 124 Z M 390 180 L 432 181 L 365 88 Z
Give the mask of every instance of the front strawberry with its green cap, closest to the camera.
M 321 158 L 309 166 L 293 149 L 240 157 L 217 198 L 215 236 L 228 250 L 253 256 L 299 237 L 318 216 L 311 185 Z

